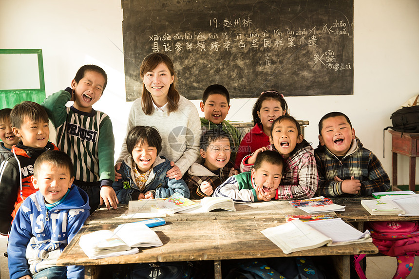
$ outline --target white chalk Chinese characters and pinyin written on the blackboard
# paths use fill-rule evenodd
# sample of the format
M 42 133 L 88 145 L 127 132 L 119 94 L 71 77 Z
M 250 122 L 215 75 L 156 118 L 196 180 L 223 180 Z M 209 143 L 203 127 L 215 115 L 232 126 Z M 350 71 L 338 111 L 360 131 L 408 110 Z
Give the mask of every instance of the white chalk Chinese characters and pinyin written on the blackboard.
M 151 52 L 180 53 L 180 52 L 219 52 L 219 51 L 240 51 L 246 48 L 265 49 L 265 66 L 271 66 L 271 56 L 267 52 L 271 48 L 295 48 L 304 44 L 309 47 L 317 47 L 321 35 L 349 36 L 350 32 L 346 30 L 347 24 L 342 20 L 324 24 L 317 29 L 301 28 L 297 30 L 264 29 L 260 32 L 251 31 L 253 21 L 247 19 L 227 19 L 220 22 L 217 18 L 209 20 L 209 26 L 215 30 L 220 29 L 218 33 L 204 32 L 184 32 L 176 34 L 153 34 L 149 36 L 152 41 Z M 244 28 L 249 28 L 248 32 L 243 32 Z M 235 29 L 240 29 L 239 32 Z M 257 30 L 257 29 L 256 29 Z M 334 50 L 325 52 L 316 52 L 314 54 L 314 64 L 323 65 L 324 68 L 339 71 L 350 70 L 351 63 L 337 61 Z

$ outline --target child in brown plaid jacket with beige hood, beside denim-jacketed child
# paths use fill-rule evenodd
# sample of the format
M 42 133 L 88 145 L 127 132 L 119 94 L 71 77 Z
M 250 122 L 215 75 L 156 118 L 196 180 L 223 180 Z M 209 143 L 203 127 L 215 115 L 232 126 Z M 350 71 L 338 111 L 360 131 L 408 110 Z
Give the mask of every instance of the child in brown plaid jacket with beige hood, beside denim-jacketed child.
M 224 130 L 215 128 L 203 133 L 199 153 L 201 158 L 190 166 L 183 177 L 191 199 L 211 196 L 227 178 L 239 173 L 229 162 L 230 137 Z

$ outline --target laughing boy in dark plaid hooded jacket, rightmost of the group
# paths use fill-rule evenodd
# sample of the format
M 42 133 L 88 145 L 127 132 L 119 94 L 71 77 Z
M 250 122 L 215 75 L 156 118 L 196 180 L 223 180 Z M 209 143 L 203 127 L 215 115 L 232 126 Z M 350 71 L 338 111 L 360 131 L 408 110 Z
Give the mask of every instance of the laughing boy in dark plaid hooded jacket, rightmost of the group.
M 320 145 L 314 150 L 319 174 L 317 194 L 370 196 L 390 188 L 379 159 L 362 147 L 349 118 L 329 112 L 319 122 Z

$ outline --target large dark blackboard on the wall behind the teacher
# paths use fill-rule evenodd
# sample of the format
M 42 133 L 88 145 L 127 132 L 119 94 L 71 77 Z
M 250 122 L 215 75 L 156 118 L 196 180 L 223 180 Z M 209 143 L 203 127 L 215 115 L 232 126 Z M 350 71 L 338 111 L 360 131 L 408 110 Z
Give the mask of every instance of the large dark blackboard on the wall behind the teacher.
M 141 95 L 139 68 L 171 57 L 179 93 L 201 99 L 353 94 L 353 0 L 122 0 L 126 99 Z

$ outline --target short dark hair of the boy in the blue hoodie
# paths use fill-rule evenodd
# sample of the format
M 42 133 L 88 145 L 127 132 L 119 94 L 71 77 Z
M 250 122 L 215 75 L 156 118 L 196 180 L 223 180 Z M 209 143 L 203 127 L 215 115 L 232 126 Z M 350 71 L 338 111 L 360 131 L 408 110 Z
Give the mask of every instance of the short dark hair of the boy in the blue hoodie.
M 60 150 L 51 150 L 45 151 L 35 161 L 34 164 L 34 177 L 38 178 L 39 170 L 42 164 L 48 163 L 54 167 L 64 167 L 67 168 L 70 177 L 74 177 L 74 167 L 73 162 L 71 161 L 70 156 Z

